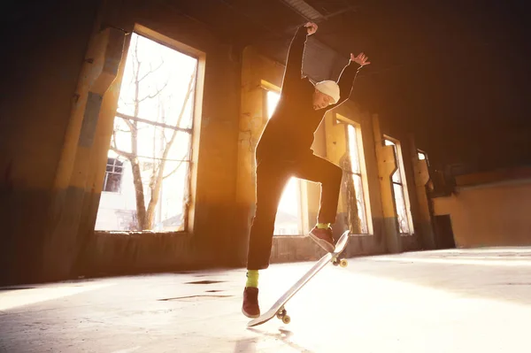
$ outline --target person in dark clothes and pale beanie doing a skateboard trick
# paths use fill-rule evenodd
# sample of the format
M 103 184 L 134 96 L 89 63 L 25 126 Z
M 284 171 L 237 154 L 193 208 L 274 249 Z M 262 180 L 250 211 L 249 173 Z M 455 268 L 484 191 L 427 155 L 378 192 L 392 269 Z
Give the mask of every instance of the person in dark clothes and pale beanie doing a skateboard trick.
M 314 85 L 302 78 L 306 38 L 316 31 L 317 25 L 312 22 L 297 28 L 289 47 L 279 103 L 256 150 L 257 203 L 250 229 L 247 283 L 242 304 L 242 312 L 249 318 L 260 315 L 258 270 L 269 266 L 276 211 L 290 177 L 321 184 L 318 223 L 310 236 L 321 248 L 335 249 L 330 225 L 335 222 L 342 169 L 313 155 L 313 134 L 327 110 L 349 98 L 358 70 L 370 63 L 363 53 L 358 57 L 350 54 L 350 62 L 343 68 L 338 83 L 321 81 Z

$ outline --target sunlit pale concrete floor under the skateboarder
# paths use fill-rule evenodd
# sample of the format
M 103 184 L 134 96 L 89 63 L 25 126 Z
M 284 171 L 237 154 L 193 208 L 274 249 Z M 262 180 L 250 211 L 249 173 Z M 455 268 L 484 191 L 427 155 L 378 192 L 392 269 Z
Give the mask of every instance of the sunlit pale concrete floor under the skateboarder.
M 312 263 L 260 274 L 262 310 Z M 2 352 L 529 352 L 531 249 L 350 259 L 248 329 L 243 270 L 0 288 Z M 214 281 L 210 284 L 193 283 Z

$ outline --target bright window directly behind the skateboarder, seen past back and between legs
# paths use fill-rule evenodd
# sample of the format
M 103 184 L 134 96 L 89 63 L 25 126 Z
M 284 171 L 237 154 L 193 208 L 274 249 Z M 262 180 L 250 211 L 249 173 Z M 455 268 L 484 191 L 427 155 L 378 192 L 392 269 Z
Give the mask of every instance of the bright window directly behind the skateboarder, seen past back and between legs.
M 267 119 L 271 119 L 273 111 L 279 103 L 280 95 L 271 90 L 267 91 Z M 296 178 L 290 178 L 284 191 L 282 192 L 281 201 L 277 209 L 276 219 L 274 222 L 274 234 L 302 234 L 301 222 L 301 181 Z

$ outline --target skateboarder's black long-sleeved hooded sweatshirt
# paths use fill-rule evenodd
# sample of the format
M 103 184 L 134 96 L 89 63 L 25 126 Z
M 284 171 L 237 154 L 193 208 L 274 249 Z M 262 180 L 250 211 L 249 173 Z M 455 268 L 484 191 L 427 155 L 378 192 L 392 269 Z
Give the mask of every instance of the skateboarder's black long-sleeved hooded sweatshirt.
M 289 46 L 279 103 L 258 142 L 259 157 L 294 159 L 312 153 L 315 130 L 327 111 L 349 98 L 358 69 L 362 67 L 350 61 L 337 82 L 340 100 L 327 108 L 314 110 L 312 96 L 315 87 L 308 78 L 301 77 L 306 38 L 306 27 L 298 27 Z

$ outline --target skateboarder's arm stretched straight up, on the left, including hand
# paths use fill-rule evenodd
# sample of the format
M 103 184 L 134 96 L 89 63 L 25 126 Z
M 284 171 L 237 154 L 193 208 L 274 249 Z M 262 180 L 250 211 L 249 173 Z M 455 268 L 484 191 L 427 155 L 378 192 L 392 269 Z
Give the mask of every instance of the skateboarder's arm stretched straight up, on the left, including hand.
M 296 84 L 301 80 L 303 73 L 303 55 L 304 45 L 308 35 L 312 35 L 317 31 L 317 25 L 308 22 L 304 26 L 296 29 L 295 36 L 291 40 L 288 51 L 288 59 L 286 60 L 286 70 L 284 72 L 284 79 L 282 81 L 282 90 L 289 88 L 289 86 Z

